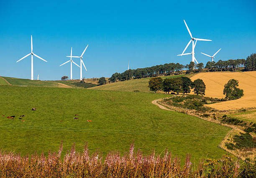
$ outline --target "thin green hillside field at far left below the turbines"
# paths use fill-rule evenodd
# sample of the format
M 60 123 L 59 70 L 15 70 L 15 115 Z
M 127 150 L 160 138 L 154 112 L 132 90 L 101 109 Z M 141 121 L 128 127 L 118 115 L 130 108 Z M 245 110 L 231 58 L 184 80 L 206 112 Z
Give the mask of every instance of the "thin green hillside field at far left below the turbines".
M 52 81 L 44 81 L 44 80 L 30 80 L 23 78 L 11 78 L 11 77 L 3 77 L 7 80 L 11 85 L 15 86 L 37 86 L 37 87 L 61 87 L 61 88 L 71 88 L 71 86 L 56 83 Z

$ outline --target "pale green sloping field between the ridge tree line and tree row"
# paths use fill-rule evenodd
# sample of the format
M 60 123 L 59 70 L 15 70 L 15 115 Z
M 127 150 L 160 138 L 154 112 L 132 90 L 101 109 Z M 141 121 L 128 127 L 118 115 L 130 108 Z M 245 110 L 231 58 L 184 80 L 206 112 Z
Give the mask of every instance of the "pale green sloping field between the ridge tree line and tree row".
M 173 75 L 173 76 L 167 76 L 162 77 L 164 78 L 175 78 L 175 77 L 181 77 L 184 75 Z M 150 78 L 140 78 L 140 79 L 132 79 L 132 80 L 125 80 L 125 81 L 119 81 L 115 83 L 107 83 L 105 85 L 100 85 L 88 89 L 93 90 L 113 90 L 113 91 L 135 91 L 138 90 L 140 92 L 146 92 L 146 93 L 154 93 L 153 91 L 150 91 L 148 88 L 148 81 Z

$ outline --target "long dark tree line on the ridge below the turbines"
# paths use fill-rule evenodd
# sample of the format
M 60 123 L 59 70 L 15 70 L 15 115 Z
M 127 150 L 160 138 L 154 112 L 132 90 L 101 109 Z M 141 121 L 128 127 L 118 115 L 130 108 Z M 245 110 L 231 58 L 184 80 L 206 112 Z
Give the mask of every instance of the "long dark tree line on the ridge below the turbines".
M 246 59 L 236 60 L 219 60 L 218 62 L 207 62 L 204 67 L 203 63 L 195 64 L 190 62 L 187 65 L 179 63 L 166 63 L 164 65 L 155 65 L 147 68 L 137 68 L 125 70 L 123 73 L 114 73 L 108 81 L 114 83 L 117 81 L 131 80 L 137 78 L 157 77 L 159 75 L 179 75 L 182 70 L 186 70 L 186 73 L 201 72 L 205 68 L 208 71 L 236 71 L 256 70 L 256 53 L 249 55 Z

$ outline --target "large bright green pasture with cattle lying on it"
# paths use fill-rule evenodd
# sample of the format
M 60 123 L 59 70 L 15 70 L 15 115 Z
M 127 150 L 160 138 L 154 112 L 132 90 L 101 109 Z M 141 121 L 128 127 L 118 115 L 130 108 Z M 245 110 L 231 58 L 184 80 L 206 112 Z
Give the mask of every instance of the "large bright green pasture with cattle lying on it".
M 61 140 L 64 152 L 75 142 L 82 151 L 100 148 L 129 150 L 134 140 L 143 153 L 161 153 L 196 160 L 226 152 L 218 144 L 230 128 L 199 118 L 160 109 L 152 100 L 166 95 L 75 88 L 0 86 L 0 149 L 27 153 L 57 151 Z M 36 107 L 36 111 L 31 108 Z M 78 114 L 78 120 L 74 120 Z M 2 116 L 5 115 L 5 116 Z M 12 119 L 8 115 L 15 115 Z M 21 122 L 20 115 L 25 115 Z M 92 120 L 88 123 L 87 120 Z M 60 122 L 63 121 L 63 122 Z

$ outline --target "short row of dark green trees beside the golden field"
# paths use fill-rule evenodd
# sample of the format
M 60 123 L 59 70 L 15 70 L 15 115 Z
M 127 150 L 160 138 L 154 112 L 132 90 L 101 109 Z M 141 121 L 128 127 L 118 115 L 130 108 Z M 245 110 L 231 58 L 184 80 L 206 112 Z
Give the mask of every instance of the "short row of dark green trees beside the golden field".
M 151 91 L 163 90 L 164 92 L 174 92 L 187 94 L 194 89 L 194 93 L 197 95 L 205 95 L 205 83 L 202 79 L 197 79 L 194 82 L 188 77 L 177 77 L 177 78 L 165 78 L 154 77 L 148 81 L 148 87 Z

